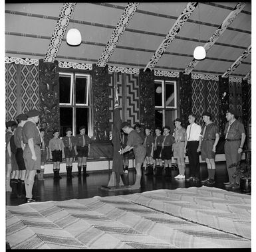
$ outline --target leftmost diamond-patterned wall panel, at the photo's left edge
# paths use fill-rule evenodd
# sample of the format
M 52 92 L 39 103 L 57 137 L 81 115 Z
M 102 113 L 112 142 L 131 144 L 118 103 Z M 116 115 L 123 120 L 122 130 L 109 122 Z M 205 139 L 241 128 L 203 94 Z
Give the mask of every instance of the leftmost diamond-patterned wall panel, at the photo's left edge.
M 5 64 L 5 121 L 17 115 L 17 64 Z

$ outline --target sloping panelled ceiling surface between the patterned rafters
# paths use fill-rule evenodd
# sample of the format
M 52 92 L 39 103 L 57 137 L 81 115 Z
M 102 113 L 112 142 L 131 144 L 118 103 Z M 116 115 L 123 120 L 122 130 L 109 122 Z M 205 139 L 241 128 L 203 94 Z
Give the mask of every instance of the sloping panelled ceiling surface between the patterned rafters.
M 205 60 L 196 62 L 191 72 L 219 76 L 235 66 L 229 70 L 229 76 L 243 78 L 251 71 L 251 3 L 245 2 L 232 18 L 238 3 L 164 2 L 136 6 L 134 3 L 76 3 L 55 58 L 62 62 L 98 64 L 113 32 L 118 30 L 116 26 L 120 21 L 125 23 L 128 17 L 128 24 L 121 26 L 123 31 L 114 37 L 118 41 L 112 44 L 113 50 L 105 60 L 108 66 L 146 69 L 172 31 L 172 41 L 150 69 L 184 72 L 193 61 L 195 46 L 205 46 L 209 38 L 221 33 L 211 44 Z M 45 58 L 63 6 L 64 3 L 5 3 L 5 56 Z M 182 13 L 186 9 L 189 15 L 184 19 Z M 125 10 L 128 10 L 126 17 Z M 219 32 L 227 17 L 231 17 L 229 24 Z M 179 20 L 182 25 L 178 25 L 178 33 L 174 34 Z M 78 29 L 82 35 L 79 46 L 66 43 L 66 33 L 71 28 Z

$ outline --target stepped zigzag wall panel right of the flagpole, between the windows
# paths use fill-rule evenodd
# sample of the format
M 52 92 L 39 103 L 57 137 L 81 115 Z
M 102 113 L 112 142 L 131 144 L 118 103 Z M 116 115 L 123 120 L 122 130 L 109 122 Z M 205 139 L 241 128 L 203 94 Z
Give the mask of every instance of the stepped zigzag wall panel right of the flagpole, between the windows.
M 139 82 L 137 74 L 125 74 L 126 78 L 126 120 L 131 125 L 140 121 Z

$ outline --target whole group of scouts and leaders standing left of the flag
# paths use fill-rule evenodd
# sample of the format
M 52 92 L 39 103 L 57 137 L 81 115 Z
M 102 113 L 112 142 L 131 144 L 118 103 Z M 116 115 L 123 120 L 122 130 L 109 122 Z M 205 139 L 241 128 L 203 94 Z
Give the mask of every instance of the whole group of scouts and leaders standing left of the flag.
M 85 134 L 85 126 L 81 126 L 80 133 L 72 136 L 72 129 L 66 129 L 66 136 L 59 138 L 59 130 L 54 129 L 53 139 L 49 145 L 45 143 L 45 129 L 39 129 L 40 112 L 33 109 L 26 114 L 17 116 L 15 121 L 5 123 L 7 131 L 6 143 L 6 190 L 12 192 L 11 196 L 26 196 L 27 202 L 33 202 L 32 188 L 36 173 L 38 180 L 45 180 L 45 161 L 53 160 L 55 180 L 61 178 L 60 162 L 66 158 L 66 172 L 68 178 L 72 176 L 72 161 L 78 158 L 78 176 L 83 170 L 86 173 L 86 158 L 90 155 L 90 138 Z M 32 139 L 32 140 L 31 140 Z M 31 171 L 31 172 L 29 172 Z

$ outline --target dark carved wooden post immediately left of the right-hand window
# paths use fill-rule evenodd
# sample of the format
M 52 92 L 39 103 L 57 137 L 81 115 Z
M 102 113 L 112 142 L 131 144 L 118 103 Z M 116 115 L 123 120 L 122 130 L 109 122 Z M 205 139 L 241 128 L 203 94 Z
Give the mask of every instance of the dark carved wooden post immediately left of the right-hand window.
M 140 69 L 140 123 L 155 127 L 155 84 L 154 70 Z

